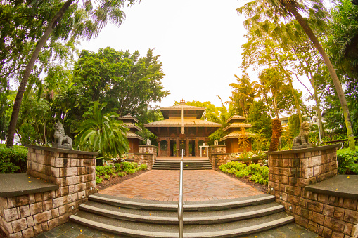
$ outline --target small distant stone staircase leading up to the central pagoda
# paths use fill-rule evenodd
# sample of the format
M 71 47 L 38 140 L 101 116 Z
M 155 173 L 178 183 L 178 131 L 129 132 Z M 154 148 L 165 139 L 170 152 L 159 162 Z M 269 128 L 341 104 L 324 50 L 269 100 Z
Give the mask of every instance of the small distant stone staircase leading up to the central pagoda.
M 165 160 L 157 159 L 153 164 L 152 169 L 164 169 L 164 170 L 179 170 L 181 160 Z M 206 160 L 184 160 L 184 170 L 198 170 L 198 169 L 212 169 L 210 161 Z

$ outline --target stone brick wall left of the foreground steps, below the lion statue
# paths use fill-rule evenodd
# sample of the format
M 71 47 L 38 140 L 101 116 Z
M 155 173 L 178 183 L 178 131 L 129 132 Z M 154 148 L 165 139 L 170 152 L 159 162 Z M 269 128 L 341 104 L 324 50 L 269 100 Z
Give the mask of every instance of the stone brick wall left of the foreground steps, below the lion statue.
M 68 221 L 96 191 L 96 155 L 30 146 L 27 173 L 59 185 L 58 190 L 0 197 L 0 225 L 8 237 L 34 237 Z

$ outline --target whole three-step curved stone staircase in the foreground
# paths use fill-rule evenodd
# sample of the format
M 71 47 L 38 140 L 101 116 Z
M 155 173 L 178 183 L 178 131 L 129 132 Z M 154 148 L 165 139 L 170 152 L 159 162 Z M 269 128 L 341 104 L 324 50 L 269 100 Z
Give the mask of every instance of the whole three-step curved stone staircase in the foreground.
M 293 222 L 275 197 L 184 201 L 184 237 L 238 237 Z M 126 237 L 178 237 L 177 201 L 92 194 L 70 216 L 75 223 Z

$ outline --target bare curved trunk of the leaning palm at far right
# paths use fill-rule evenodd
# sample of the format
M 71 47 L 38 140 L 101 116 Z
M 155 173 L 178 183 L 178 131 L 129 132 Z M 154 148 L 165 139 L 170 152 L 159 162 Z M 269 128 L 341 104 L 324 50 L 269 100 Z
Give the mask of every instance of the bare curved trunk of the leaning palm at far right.
M 295 16 L 295 19 L 298 21 L 298 23 L 305 31 L 309 39 L 312 41 L 314 47 L 317 48 L 322 58 L 324 59 L 324 62 L 326 63 L 328 72 L 331 75 L 333 84 L 335 86 L 335 90 L 337 91 L 338 98 L 340 100 L 340 105 L 342 106 L 343 114 L 345 116 L 345 127 L 347 128 L 350 150 L 355 150 L 354 133 L 352 129 L 352 121 L 350 120 L 350 111 L 348 110 L 347 100 L 345 99 L 345 93 L 343 92 L 342 85 L 340 84 L 338 76 L 335 73 L 331 60 L 329 60 L 328 55 L 324 51 L 324 48 L 322 48 L 316 35 L 314 35 L 314 33 L 312 32 L 312 29 L 307 24 L 307 21 L 304 18 L 302 18 L 302 15 L 300 15 L 300 13 L 298 13 L 297 5 L 295 4 L 295 2 L 293 2 L 292 0 L 289 2 L 285 2 L 284 6 L 286 6 L 288 8 L 288 11 L 290 11 L 290 13 L 292 13 Z

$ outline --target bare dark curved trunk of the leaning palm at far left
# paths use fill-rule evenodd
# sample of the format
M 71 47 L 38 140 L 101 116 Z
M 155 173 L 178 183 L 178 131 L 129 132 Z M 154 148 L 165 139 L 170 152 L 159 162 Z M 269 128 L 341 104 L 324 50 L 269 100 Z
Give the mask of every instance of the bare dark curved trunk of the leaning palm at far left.
M 41 52 L 41 48 L 44 47 L 46 44 L 47 39 L 49 39 L 49 36 L 51 32 L 53 31 L 53 28 L 56 27 L 57 22 L 63 17 L 63 14 L 67 9 L 70 7 L 72 2 L 75 0 L 68 0 L 63 4 L 62 8 L 60 8 L 60 11 L 56 13 L 56 15 L 52 18 L 51 22 L 47 26 L 44 34 L 42 37 L 37 41 L 36 48 L 34 49 L 34 52 L 32 52 L 30 61 L 28 62 L 23 78 L 21 79 L 20 86 L 18 88 L 18 93 L 16 94 L 15 101 L 13 103 L 13 112 L 11 114 L 10 124 L 8 126 L 8 141 L 6 143 L 6 147 L 13 148 L 13 138 L 15 134 L 16 129 L 16 123 L 18 122 L 18 115 L 20 112 L 20 106 L 21 102 L 23 100 L 23 95 L 25 92 L 25 88 L 27 85 L 27 81 L 30 77 L 30 74 L 32 72 L 32 69 L 34 67 L 34 63 L 36 62 L 37 58 L 39 57 L 39 53 Z

